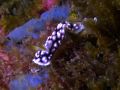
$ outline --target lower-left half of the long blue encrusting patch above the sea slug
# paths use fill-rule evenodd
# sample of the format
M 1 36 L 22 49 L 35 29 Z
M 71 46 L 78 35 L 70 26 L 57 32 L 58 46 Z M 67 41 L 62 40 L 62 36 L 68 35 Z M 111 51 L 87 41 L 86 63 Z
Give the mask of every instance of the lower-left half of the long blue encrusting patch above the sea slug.
M 37 39 L 39 37 L 39 33 L 37 33 L 39 28 L 42 30 L 44 28 L 44 24 L 39 23 L 37 19 L 31 19 L 24 25 L 11 31 L 7 37 L 13 42 L 21 41 L 28 36 L 32 36 Z

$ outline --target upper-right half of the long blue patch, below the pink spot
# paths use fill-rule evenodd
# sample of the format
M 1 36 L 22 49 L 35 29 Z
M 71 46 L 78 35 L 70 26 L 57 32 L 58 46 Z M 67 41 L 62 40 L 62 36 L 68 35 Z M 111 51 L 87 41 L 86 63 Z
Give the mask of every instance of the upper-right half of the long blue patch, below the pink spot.
M 41 20 L 47 21 L 65 21 L 70 14 L 69 5 L 56 6 L 41 15 Z

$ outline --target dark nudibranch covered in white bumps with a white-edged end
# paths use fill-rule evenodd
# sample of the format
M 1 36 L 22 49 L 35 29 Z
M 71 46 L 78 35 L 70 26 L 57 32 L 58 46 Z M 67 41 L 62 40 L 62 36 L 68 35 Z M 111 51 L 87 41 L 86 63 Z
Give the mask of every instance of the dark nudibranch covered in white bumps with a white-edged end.
M 67 21 L 59 23 L 55 30 L 52 32 L 52 35 L 49 36 L 44 44 L 45 50 L 39 50 L 35 53 L 33 62 L 40 66 L 47 66 L 51 62 L 51 58 L 57 48 L 61 45 L 61 41 L 65 36 L 65 28 L 75 32 L 81 32 L 84 30 L 84 25 L 72 24 Z

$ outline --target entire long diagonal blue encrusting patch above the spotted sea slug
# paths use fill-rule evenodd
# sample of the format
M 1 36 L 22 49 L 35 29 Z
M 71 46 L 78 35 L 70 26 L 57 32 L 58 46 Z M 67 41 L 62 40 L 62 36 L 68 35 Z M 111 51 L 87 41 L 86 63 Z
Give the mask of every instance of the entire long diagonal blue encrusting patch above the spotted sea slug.
M 7 38 L 9 39 L 8 43 L 13 44 L 16 42 L 21 42 L 27 37 L 38 39 L 40 31 L 45 30 L 45 25 L 47 22 L 64 21 L 67 19 L 69 13 L 70 13 L 69 5 L 53 7 L 49 11 L 46 11 L 45 13 L 43 13 L 39 19 L 31 19 L 24 25 L 19 26 L 14 30 L 12 30 L 7 35 Z

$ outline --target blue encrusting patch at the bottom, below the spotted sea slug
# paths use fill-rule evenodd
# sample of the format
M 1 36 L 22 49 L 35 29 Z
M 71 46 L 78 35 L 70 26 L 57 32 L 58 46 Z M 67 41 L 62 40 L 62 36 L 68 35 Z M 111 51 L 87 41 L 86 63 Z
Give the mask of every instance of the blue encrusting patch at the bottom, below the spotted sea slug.
M 44 71 L 42 74 L 26 74 L 19 76 L 17 79 L 12 80 L 9 84 L 10 90 L 30 90 L 37 88 L 42 83 L 45 83 L 49 78 L 48 72 Z

